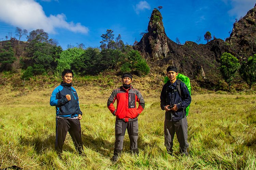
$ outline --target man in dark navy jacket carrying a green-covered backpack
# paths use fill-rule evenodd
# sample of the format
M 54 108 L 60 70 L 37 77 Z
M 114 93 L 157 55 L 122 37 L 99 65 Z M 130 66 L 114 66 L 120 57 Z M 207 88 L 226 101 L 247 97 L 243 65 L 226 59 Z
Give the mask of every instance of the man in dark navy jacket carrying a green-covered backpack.
M 163 85 L 160 96 L 161 109 L 166 111 L 165 146 L 167 152 L 172 155 L 173 138 L 176 132 L 180 143 L 180 153 L 188 155 L 186 107 L 191 103 L 191 97 L 185 83 L 176 79 L 177 75 L 176 67 L 169 66 L 167 68 L 167 76 L 170 81 Z M 181 96 L 179 88 L 177 88 L 178 85 L 180 85 Z

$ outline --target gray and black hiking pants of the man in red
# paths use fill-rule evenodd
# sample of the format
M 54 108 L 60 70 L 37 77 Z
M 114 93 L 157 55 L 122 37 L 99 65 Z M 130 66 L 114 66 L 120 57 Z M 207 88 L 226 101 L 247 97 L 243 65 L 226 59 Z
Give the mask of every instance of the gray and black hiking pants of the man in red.
M 138 119 L 125 122 L 116 118 L 115 123 L 115 149 L 114 156 L 117 156 L 123 149 L 125 131 L 127 129 L 130 138 L 130 149 L 132 152 L 138 152 Z

